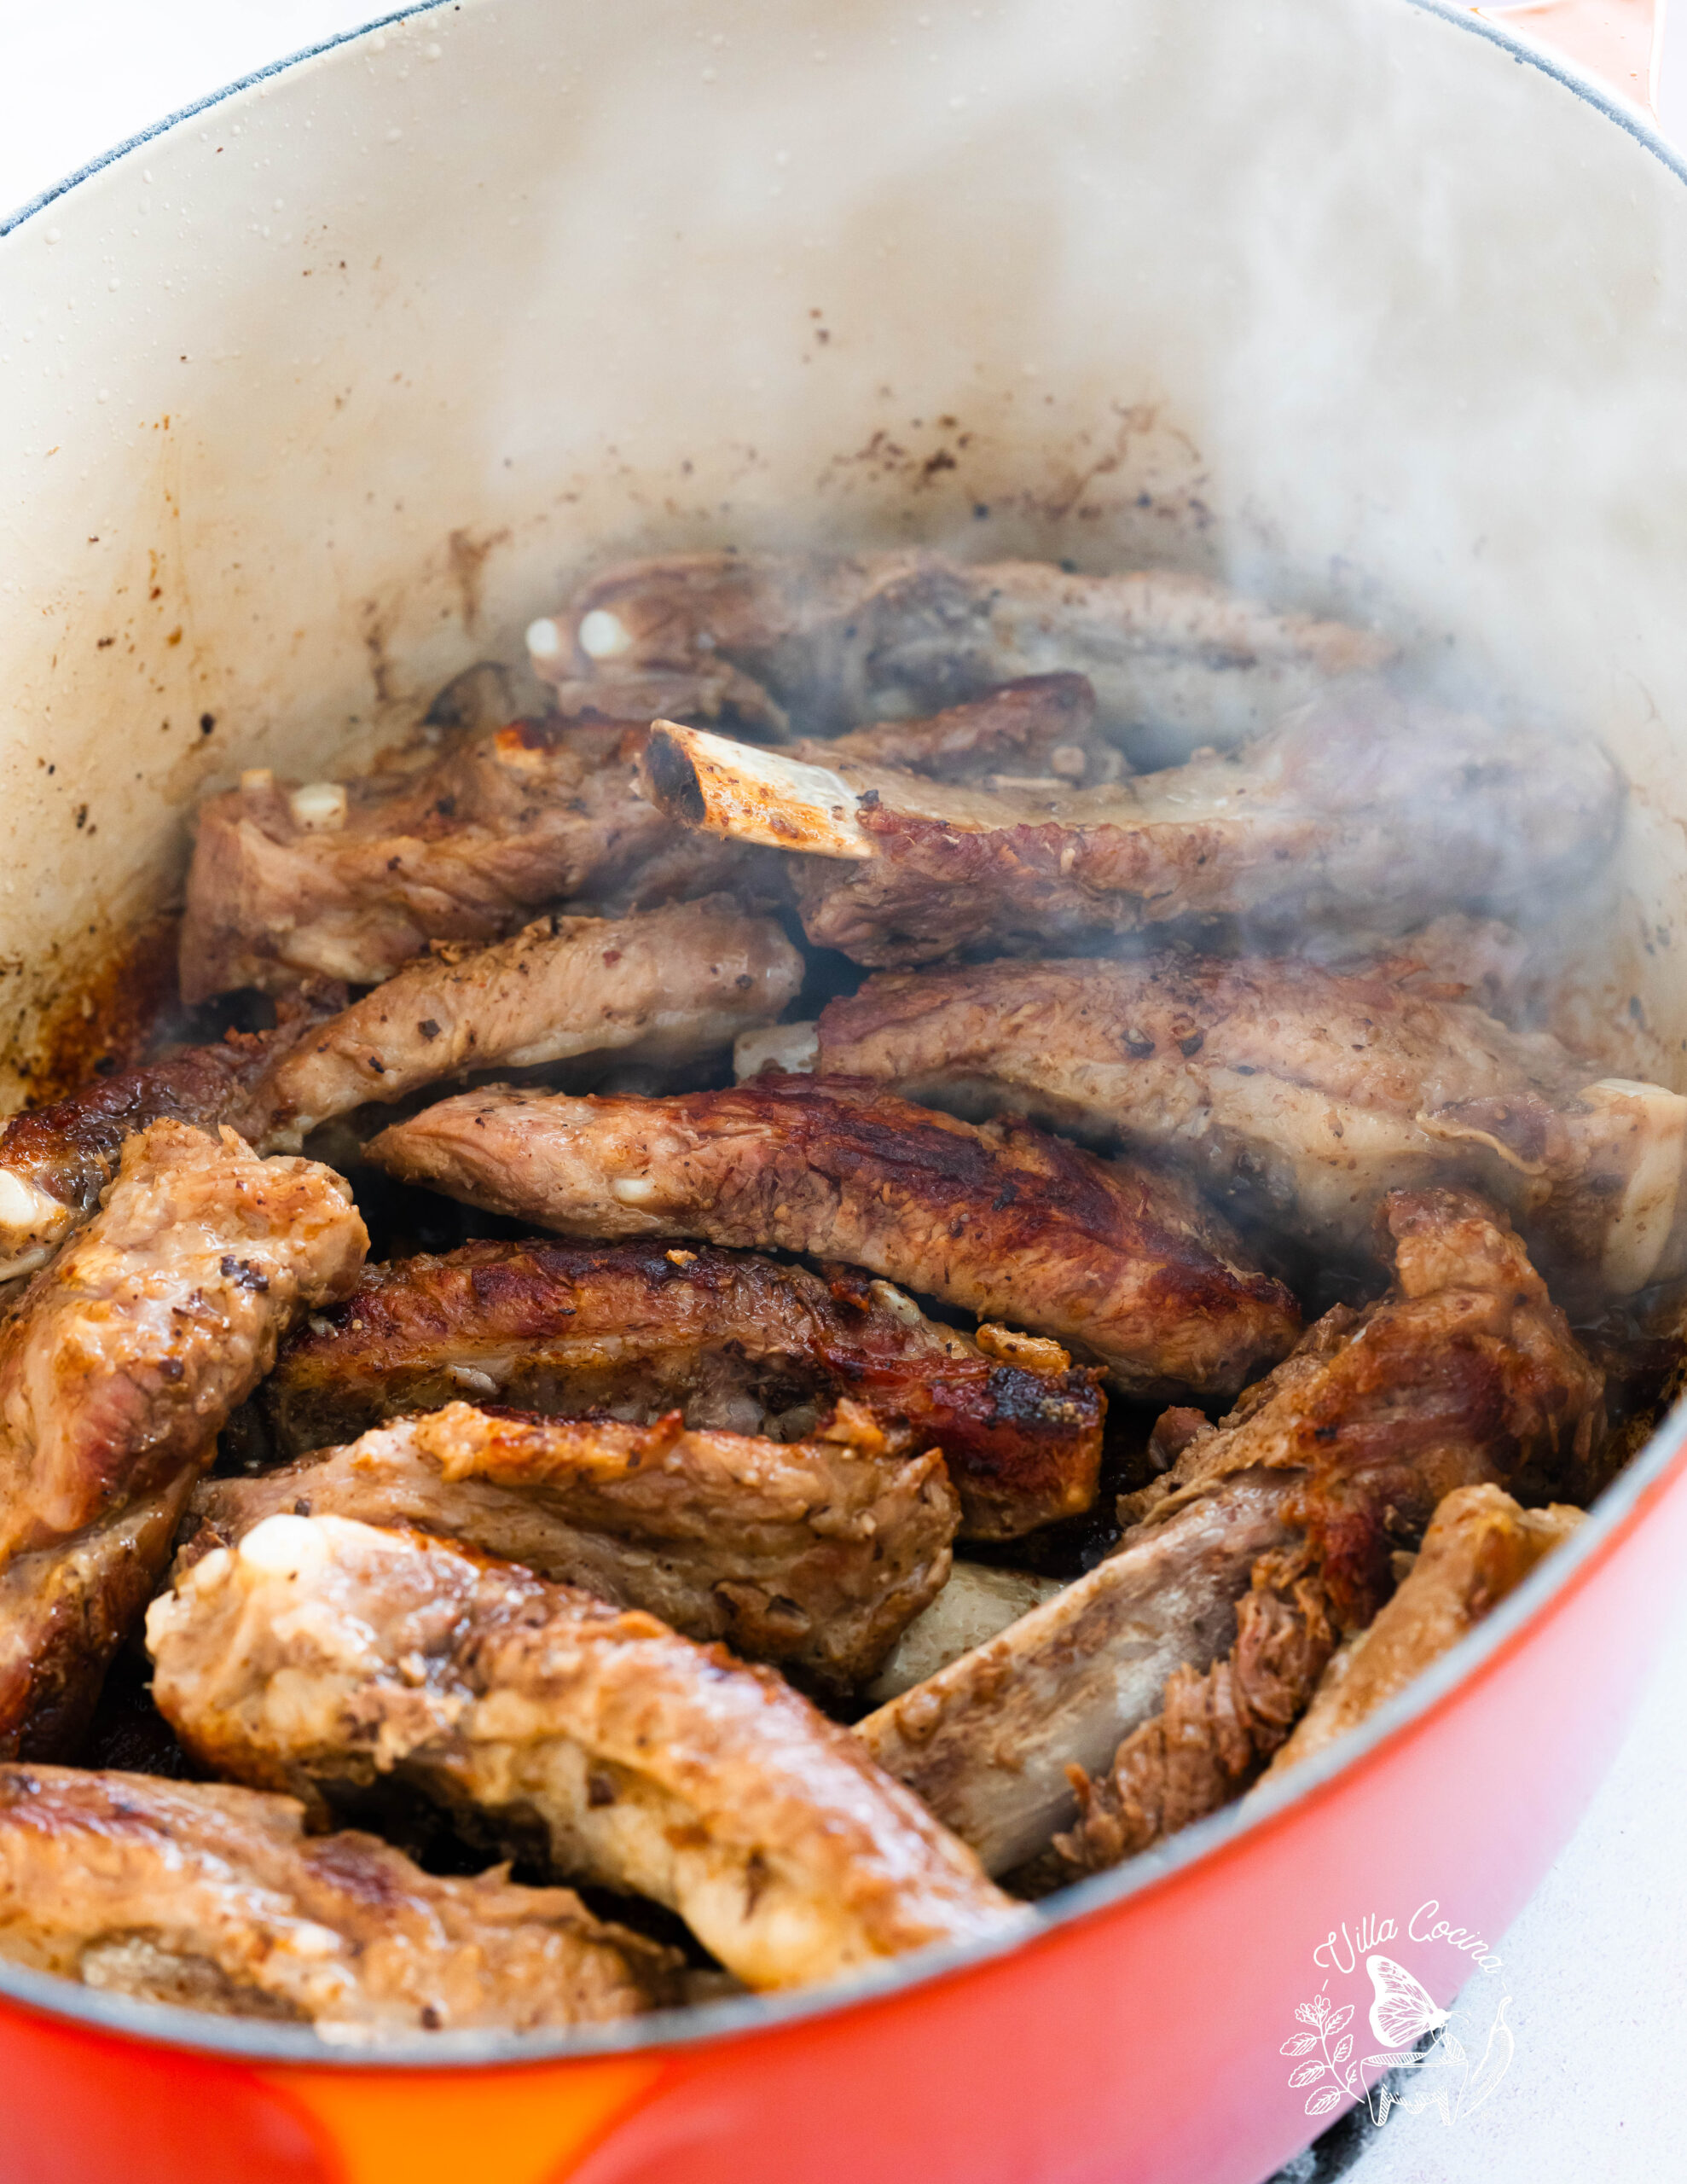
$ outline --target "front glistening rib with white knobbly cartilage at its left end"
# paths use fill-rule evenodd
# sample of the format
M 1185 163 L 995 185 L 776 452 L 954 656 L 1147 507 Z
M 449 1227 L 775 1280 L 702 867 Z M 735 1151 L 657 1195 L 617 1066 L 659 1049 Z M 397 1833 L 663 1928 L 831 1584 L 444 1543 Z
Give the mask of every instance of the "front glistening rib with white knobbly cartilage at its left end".
M 153 1603 L 155 1697 L 220 1773 L 395 1773 L 650 1896 L 753 1987 L 1015 1918 L 969 1850 L 770 1669 L 419 1533 L 273 1516 Z

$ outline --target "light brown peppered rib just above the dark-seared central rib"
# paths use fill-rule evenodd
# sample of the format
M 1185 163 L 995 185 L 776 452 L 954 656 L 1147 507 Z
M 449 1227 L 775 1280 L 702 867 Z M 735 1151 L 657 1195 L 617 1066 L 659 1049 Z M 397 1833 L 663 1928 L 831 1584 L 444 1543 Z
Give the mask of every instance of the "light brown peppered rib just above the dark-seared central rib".
M 685 1061 L 770 1022 L 803 959 L 727 895 L 633 917 L 541 917 L 493 948 L 436 946 L 292 1046 L 260 1085 L 264 1142 L 458 1070 L 576 1055 Z

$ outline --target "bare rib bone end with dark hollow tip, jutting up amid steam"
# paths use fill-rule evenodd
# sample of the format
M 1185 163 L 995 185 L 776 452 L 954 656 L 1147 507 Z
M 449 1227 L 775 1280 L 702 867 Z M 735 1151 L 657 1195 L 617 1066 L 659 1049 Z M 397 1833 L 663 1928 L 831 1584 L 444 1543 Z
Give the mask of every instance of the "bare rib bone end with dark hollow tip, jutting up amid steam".
M 856 791 L 829 767 L 653 721 L 639 780 L 659 810 L 707 834 L 812 856 L 873 856 L 856 821 Z

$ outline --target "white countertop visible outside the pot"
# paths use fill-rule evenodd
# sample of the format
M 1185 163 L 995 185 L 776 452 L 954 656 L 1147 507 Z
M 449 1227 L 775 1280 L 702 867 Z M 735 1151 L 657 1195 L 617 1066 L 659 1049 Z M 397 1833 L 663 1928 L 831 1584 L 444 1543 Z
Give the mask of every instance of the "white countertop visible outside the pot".
M 0 216 L 378 0 L 0 0 Z M 1397 2110 L 1353 2184 L 1667 2184 L 1687 2027 L 1687 1612 L 1582 1828 L 1504 1939 L 1517 2053 L 1477 2114 Z M 1325 2184 L 1331 2153 L 1290 2175 Z M 674 2180 L 681 2184 L 681 2180 Z

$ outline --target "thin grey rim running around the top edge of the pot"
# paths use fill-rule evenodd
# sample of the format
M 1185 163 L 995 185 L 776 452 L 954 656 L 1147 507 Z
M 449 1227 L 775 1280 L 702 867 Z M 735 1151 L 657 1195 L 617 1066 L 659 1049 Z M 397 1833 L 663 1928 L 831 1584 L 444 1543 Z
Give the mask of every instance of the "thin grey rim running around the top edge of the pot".
M 1528 35 L 1491 22 L 1460 0 L 1397 0 L 1451 28 L 1486 39 L 1512 55 L 1519 66 L 1563 83 L 1569 92 L 1615 122 L 1641 149 L 1652 153 L 1676 179 L 1687 181 L 1687 157 L 1678 153 L 1648 120 L 1643 109 L 1613 92 L 1602 79 L 1576 63 L 1536 46 Z M 33 197 L 17 212 L 0 216 L 0 240 L 37 218 L 48 205 L 118 159 L 151 144 L 155 138 L 223 105 L 253 85 L 299 68 L 338 46 L 384 31 L 415 24 L 428 15 L 460 13 L 454 0 L 432 0 L 426 7 L 395 9 L 334 37 L 303 46 L 279 61 L 268 61 L 192 105 L 177 107 L 161 120 L 124 138 L 111 151 L 65 175 Z M 618 2025 L 570 2027 L 557 2033 L 417 2033 L 380 2046 L 334 2046 L 308 2025 L 273 2025 L 251 2018 L 212 2018 L 170 2003 L 144 2003 L 129 1996 L 100 1994 L 52 1972 L 33 1972 L 0 1961 L 0 2016 L 15 2005 L 31 2016 L 74 2025 L 94 2033 L 122 2035 L 146 2046 L 216 2055 L 229 2062 L 308 2064 L 323 2070 L 484 2070 L 530 2068 L 559 2062 L 589 2062 L 613 2055 L 646 2055 L 694 2049 L 703 2044 L 775 2033 L 834 2011 L 871 2007 L 914 1987 L 956 1979 L 1030 1948 L 1052 1946 L 1078 1922 L 1096 1920 L 1130 1898 L 1163 1889 L 1207 1863 L 1235 1856 L 1259 1830 L 1283 1828 L 1303 1808 L 1336 1793 L 1349 1773 L 1368 1765 L 1384 1747 L 1427 1734 L 1434 1719 L 1456 1695 L 1475 1688 L 1497 1673 L 1523 1647 L 1530 1634 L 1558 1614 L 1598 1570 L 1613 1559 L 1622 1542 L 1646 1511 L 1663 1500 L 1678 1474 L 1687 1472 L 1687 1396 L 1676 1402 L 1646 1448 L 1604 1489 L 1587 1522 L 1534 1568 L 1534 1572 L 1471 1634 L 1467 1634 L 1434 1666 L 1423 1671 L 1386 1706 L 1377 1708 L 1357 1730 L 1349 1730 L 1325 1752 L 1303 1760 L 1281 1782 L 1211 1813 L 1181 1835 L 1126 1861 L 1113 1872 L 1093 1874 L 1063 1889 L 1058 1898 L 1030 1907 L 1032 1924 L 997 1939 L 936 1944 L 910 1957 L 890 1959 L 851 1979 L 823 1987 L 801 1987 L 783 1994 L 749 1994 L 731 2001 L 698 2003 L 685 2009 L 653 2011 Z M 24 1762 L 26 1765 L 26 1762 Z

